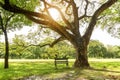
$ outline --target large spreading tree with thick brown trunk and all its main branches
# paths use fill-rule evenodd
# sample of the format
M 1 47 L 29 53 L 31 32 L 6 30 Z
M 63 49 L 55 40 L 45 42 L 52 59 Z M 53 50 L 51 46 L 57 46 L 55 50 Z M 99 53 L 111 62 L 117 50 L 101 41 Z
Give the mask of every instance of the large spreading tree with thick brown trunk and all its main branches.
M 40 11 L 41 9 L 39 11 L 30 11 L 20 8 L 12 3 L 11 0 L 4 0 L 1 6 L 5 10 L 23 14 L 28 19 L 44 25 L 42 27 L 50 28 L 57 32 L 60 37 L 50 44 L 50 46 L 53 46 L 59 41 L 68 40 L 76 50 L 74 67 L 79 68 L 90 67 L 87 57 L 87 45 L 89 44 L 94 27 L 97 21 L 102 18 L 100 14 L 117 1 L 103 0 L 99 4 L 99 1 L 91 2 L 89 0 L 39 0 L 40 6 L 44 8 L 42 11 Z M 93 7 L 95 8 L 93 9 Z M 60 21 L 57 22 L 51 17 L 49 12 L 50 8 L 59 11 Z M 83 26 L 82 24 L 86 26 L 84 34 L 80 30 Z

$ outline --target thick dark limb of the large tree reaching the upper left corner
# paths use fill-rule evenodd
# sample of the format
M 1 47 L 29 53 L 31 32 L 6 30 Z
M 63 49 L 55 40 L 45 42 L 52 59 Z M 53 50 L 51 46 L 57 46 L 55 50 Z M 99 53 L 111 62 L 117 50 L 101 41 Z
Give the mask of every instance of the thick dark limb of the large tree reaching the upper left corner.
M 61 26 L 60 24 L 58 24 L 57 22 L 53 21 L 51 18 L 49 18 L 48 15 L 43 14 L 43 13 L 38 13 L 38 12 L 33 12 L 33 11 L 29 11 L 29 10 L 25 10 L 22 8 L 19 8 L 15 5 L 10 5 L 8 3 L 2 4 L 2 7 L 8 11 L 14 12 L 14 13 L 19 13 L 19 14 L 24 14 L 25 16 L 27 16 L 30 20 L 33 20 L 34 22 L 40 20 L 40 21 L 49 21 L 49 24 L 51 26 L 49 27 L 55 27 L 57 30 L 57 32 L 59 32 L 59 34 L 61 33 L 62 36 L 65 36 L 66 38 L 70 39 L 71 38 L 71 34 L 69 34 L 69 32 L 66 31 L 66 29 Z M 47 3 L 48 6 L 51 6 L 50 4 Z M 59 9 L 59 8 L 57 8 Z M 62 12 L 61 12 L 62 13 Z M 39 23 L 41 23 L 39 21 Z M 67 20 L 66 20 L 67 21 Z M 47 24 L 47 23 L 46 23 Z M 44 24 L 43 24 L 44 25 Z M 53 29 L 54 30 L 54 29 Z M 61 35 L 60 34 L 60 35 Z

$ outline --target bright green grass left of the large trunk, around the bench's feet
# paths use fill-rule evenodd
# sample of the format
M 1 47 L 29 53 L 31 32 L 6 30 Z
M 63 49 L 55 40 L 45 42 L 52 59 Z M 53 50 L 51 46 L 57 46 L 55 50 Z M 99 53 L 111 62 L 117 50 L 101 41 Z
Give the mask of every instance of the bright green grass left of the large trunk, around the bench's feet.
M 3 69 L 3 63 L 0 63 L 0 80 L 13 80 L 30 75 L 47 75 L 67 71 L 65 65 L 59 65 L 55 69 L 53 62 L 10 62 L 9 69 Z

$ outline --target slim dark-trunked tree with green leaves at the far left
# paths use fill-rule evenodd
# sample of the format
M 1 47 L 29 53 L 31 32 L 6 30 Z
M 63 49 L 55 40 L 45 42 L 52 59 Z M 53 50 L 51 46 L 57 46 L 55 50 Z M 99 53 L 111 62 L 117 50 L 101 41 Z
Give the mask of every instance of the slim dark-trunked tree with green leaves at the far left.
M 0 0 L 2 1 L 2 0 Z M 13 1 L 13 3 L 17 3 L 16 1 Z M 21 4 L 24 3 L 21 1 Z M 18 4 L 19 6 L 21 4 Z M 24 3 L 25 4 L 25 3 Z M 29 2 L 27 3 L 28 6 L 26 7 L 25 5 L 22 4 L 22 7 L 34 9 L 33 6 L 30 6 Z M 26 19 L 25 16 L 23 15 L 15 15 L 15 13 L 8 12 L 0 7 L 0 29 L 4 33 L 5 36 L 5 64 L 4 68 L 8 68 L 8 57 L 9 57 L 9 40 L 8 40 L 8 31 L 10 30 L 15 30 L 16 28 L 21 28 L 23 25 L 30 25 L 31 21 Z

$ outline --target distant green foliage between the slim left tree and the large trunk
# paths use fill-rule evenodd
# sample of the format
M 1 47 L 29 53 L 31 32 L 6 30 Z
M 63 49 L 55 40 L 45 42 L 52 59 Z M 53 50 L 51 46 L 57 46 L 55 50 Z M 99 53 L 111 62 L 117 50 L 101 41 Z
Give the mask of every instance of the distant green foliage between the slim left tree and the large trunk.
M 16 35 L 13 39 L 13 43 L 10 45 L 10 57 L 11 58 L 29 58 L 29 59 L 49 59 L 54 58 L 55 54 L 59 57 L 67 56 L 68 58 L 74 58 L 74 48 L 67 42 L 60 42 L 54 47 L 40 47 L 31 44 L 26 41 L 27 38 L 24 35 Z M 46 38 L 39 43 L 39 45 L 50 44 L 53 39 Z

